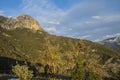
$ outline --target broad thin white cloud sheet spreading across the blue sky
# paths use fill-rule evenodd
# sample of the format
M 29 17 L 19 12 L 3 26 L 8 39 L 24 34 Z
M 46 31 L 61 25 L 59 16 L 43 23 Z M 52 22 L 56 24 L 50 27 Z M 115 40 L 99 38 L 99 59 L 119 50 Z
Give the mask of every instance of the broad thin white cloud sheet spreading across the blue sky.
M 23 12 L 35 15 L 48 32 L 95 40 L 107 34 L 120 32 L 120 14 L 108 10 L 104 2 L 83 0 L 63 10 L 52 0 L 23 0 Z

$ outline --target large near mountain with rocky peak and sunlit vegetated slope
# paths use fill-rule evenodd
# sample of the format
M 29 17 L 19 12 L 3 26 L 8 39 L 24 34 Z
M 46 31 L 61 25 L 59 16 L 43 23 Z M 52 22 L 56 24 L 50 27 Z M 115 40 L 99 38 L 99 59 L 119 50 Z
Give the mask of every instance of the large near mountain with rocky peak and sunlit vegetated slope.
M 29 15 L 0 16 L 0 74 L 10 75 L 16 62 L 28 65 L 35 76 L 51 73 L 76 80 L 81 74 L 94 80 L 98 76 L 120 79 L 120 54 L 110 48 L 88 40 L 51 35 Z

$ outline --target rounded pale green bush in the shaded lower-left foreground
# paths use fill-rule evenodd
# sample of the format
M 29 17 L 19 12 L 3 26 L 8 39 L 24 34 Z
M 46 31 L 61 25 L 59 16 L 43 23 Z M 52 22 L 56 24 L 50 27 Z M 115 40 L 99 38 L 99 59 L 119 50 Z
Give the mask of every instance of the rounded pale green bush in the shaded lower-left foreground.
M 12 71 L 20 80 L 29 80 L 33 77 L 33 71 L 30 71 L 26 65 L 17 64 L 13 66 Z

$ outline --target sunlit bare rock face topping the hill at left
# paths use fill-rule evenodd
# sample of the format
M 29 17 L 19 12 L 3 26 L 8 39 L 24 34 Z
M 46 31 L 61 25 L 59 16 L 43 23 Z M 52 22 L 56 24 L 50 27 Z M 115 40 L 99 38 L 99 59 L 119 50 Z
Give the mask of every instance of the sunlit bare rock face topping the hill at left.
M 0 16 L 0 26 L 6 29 L 29 28 L 32 30 L 44 31 L 37 20 L 25 14 L 16 18 Z

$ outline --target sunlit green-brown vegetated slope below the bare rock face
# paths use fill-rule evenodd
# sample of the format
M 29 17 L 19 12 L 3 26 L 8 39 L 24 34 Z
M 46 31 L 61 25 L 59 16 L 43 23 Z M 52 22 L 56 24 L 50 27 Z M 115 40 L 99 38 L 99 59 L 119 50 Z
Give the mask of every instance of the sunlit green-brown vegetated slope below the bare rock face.
M 48 67 L 47 73 L 67 76 L 71 76 L 82 58 L 87 66 L 80 65 L 87 71 L 92 70 L 103 78 L 119 79 L 120 55 L 113 50 L 91 41 L 50 35 L 44 30 L 23 26 L 15 29 L 0 27 L 1 58 L 29 62 L 40 73 L 46 72 Z

